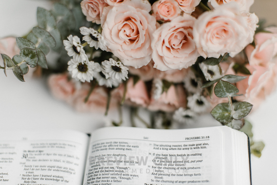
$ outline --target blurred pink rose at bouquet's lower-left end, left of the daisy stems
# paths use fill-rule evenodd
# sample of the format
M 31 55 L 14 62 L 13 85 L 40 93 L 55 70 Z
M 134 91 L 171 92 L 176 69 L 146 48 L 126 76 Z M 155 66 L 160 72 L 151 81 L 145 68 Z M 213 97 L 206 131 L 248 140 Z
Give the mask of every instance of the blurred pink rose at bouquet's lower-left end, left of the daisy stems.
M 52 95 L 67 101 L 74 93 L 74 83 L 68 79 L 68 74 L 52 74 L 48 78 L 48 86 Z

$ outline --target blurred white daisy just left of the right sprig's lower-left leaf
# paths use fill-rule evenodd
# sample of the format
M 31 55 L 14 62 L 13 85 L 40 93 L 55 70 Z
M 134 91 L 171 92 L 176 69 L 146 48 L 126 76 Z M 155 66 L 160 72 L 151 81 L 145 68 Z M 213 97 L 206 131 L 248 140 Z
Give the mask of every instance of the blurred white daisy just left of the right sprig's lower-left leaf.
M 195 113 L 203 113 L 208 111 L 210 103 L 204 96 L 196 93 L 187 97 L 187 107 Z

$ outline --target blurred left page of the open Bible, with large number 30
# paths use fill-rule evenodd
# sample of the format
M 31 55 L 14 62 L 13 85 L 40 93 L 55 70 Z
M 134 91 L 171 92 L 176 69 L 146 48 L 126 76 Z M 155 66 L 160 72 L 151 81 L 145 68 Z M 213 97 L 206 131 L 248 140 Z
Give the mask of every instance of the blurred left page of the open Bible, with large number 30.
M 88 140 L 74 131 L 0 131 L 0 185 L 81 185 Z

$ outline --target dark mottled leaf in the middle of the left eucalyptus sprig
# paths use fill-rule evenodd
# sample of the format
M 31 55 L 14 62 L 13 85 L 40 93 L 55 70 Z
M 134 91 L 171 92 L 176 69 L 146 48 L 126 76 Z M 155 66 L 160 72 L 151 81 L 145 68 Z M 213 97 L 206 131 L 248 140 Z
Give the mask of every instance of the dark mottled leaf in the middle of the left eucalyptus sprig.
M 31 68 L 34 68 L 37 66 L 38 55 L 35 49 L 25 47 L 20 50 L 20 56 L 22 57 L 23 60 L 26 61 L 28 65 L 30 65 Z

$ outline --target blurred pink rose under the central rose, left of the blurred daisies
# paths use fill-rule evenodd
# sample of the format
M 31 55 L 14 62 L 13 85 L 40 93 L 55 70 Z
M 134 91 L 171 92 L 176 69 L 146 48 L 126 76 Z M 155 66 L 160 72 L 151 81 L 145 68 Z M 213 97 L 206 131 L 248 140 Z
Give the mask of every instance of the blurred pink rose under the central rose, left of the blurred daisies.
M 183 85 L 171 85 L 167 92 L 163 92 L 158 100 L 151 97 L 147 107 L 151 111 L 173 112 L 180 107 L 186 107 L 186 94 Z

